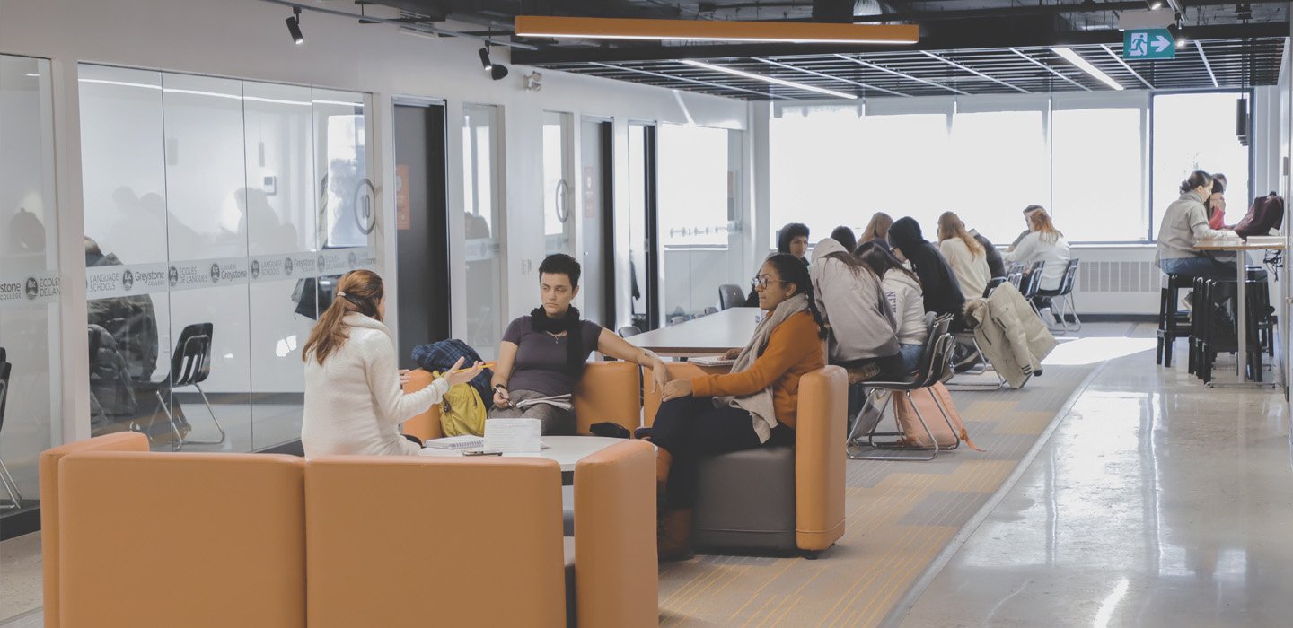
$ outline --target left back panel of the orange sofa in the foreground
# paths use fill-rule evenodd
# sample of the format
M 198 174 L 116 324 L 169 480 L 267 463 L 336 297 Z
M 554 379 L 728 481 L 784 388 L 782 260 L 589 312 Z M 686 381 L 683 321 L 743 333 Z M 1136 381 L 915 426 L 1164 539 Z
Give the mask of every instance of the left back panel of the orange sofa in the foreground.
M 65 456 L 59 625 L 304 628 L 304 472 L 266 454 Z

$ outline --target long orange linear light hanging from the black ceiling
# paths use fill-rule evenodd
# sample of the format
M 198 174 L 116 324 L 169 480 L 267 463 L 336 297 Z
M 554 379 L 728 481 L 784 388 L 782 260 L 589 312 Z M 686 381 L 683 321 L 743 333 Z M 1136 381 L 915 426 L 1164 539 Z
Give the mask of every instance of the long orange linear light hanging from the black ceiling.
M 773 41 L 791 44 L 914 44 L 917 25 L 729 22 L 517 16 L 520 37 Z

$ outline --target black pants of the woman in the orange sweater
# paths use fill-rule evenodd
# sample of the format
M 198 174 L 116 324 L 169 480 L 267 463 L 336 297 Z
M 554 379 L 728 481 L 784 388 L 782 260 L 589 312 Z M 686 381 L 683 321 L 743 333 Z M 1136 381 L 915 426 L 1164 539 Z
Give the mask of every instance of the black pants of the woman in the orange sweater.
M 778 424 L 767 443 L 754 433 L 754 417 L 741 408 L 715 408 L 710 397 L 681 397 L 659 407 L 652 425 L 652 442 L 674 456 L 668 469 L 670 508 L 696 503 L 700 460 L 714 454 L 753 450 L 795 442 L 795 430 Z

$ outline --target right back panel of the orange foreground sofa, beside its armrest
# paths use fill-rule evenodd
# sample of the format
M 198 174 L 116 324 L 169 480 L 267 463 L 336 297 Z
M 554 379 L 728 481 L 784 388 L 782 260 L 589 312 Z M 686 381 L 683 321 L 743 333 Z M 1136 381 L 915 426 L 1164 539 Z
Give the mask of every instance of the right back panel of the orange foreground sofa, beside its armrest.
M 310 628 L 565 625 L 553 460 L 310 460 L 305 508 Z

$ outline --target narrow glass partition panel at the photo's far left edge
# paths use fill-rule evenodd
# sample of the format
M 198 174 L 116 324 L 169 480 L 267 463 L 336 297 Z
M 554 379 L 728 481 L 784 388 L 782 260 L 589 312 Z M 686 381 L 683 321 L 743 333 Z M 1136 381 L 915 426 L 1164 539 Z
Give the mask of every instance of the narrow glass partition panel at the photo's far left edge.
M 49 61 L 0 54 L 0 518 L 5 519 L 26 517 L 40 505 L 36 460 L 62 437 L 52 120 Z

